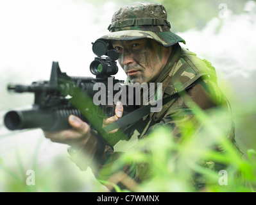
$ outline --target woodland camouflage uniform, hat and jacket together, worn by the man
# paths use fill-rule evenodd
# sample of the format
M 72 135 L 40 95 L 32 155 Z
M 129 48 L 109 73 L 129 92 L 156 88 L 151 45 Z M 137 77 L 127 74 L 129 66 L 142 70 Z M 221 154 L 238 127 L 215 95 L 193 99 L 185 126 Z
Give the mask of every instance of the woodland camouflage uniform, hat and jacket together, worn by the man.
M 166 67 L 158 76 L 155 83 L 162 83 L 163 97 L 175 94 L 194 83 L 194 86 L 187 90 L 190 99 L 185 100 L 177 95 L 162 107 L 162 111 L 149 113 L 147 117 L 138 123 L 135 129 L 139 133 L 139 139 L 145 138 L 148 133 L 158 125 L 168 126 L 175 137 L 179 140 L 182 137 L 183 125 L 187 121 L 193 122 L 192 128 L 198 126 L 193 112 L 195 102 L 202 110 L 209 108 L 226 107 L 229 109 L 228 101 L 221 93 L 217 85 L 216 72 L 214 67 L 206 60 L 196 57 L 196 54 L 180 47 L 178 42 L 185 40 L 170 31 L 171 25 L 167 21 L 167 13 L 161 4 L 156 3 L 133 3 L 120 8 L 114 13 L 112 24 L 108 27 L 110 33 L 101 37 L 101 40 L 135 40 L 149 38 L 156 40 L 159 44 L 168 47 L 173 45 L 173 51 Z M 228 138 L 237 147 L 234 140 L 234 124 L 230 121 L 228 126 Z M 118 178 L 115 183 L 127 178 L 134 179 L 139 183 L 148 179 L 153 170 L 147 163 L 133 164 L 123 167 L 122 172 L 115 174 L 112 171 L 112 164 L 119 158 L 120 152 L 114 152 L 110 147 L 105 147 L 105 152 L 99 160 L 93 172 L 98 179 L 112 181 Z M 132 181 L 130 181 L 132 184 Z M 121 185 L 119 183 L 119 185 Z M 108 185 L 107 185 L 108 186 Z M 129 183 L 126 183 L 126 188 Z M 132 185 L 130 185 L 132 186 Z M 112 186 L 108 186 L 112 188 Z M 129 187 L 128 187 L 129 188 Z

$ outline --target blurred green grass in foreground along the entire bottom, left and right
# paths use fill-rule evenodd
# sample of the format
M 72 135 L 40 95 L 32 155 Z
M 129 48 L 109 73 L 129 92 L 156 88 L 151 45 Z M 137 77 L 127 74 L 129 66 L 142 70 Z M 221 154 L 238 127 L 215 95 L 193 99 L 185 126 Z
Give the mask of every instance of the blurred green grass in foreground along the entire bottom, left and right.
M 234 119 L 237 121 L 243 121 L 244 115 L 249 113 L 254 116 L 256 114 L 253 104 L 246 110 L 241 105 L 239 108 L 240 110 L 234 113 Z M 186 135 L 177 142 L 169 129 L 157 127 L 147 138 L 139 140 L 128 151 L 123 152 L 111 169 L 120 170 L 124 165 L 149 162 L 149 166 L 154 170 L 153 175 L 142 184 L 133 182 L 133 192 L 255 192 L 255 147 L 245 150 L 243 156 L 234 149 L 225 136 L 226 127 L 223 126 L 229 119 L 223 116 L 221 110 L 205 113 L 197 109 L 195 112 L 204 127 L 201 135 L 186 131 Z M 248 130 L 243 130 L 244 133 L 253 133 L 253 127 L 247 128 Z M 216 151 L 216 146 L 221 146 L 225 152 Z M 16 163 L 13 161 L 11 167 L 5 165 L 6 159 L 0 159 L 1 192 L 107 191 L 96 181 L 90 169 L 81 172 L 66 156 L 54 158 L 48 161 L 47 165 L 38 164 L 38 149 L 39 143 L 31 157 L 31 164 L 24 163 L 19 154 Z M 84 158 L 81 163 L 84 163 Z M 218 164 L 224 165 L 225 168 L 219 168 Z M 35 170 L 34 186 L 26 184 L 28 176 L 25 173 L 29 169 Z M 223 178 L 221 170 L 226 172 L 226 179 Z M 124 179 L 130 180 L 127 177 Z M 221 184 L 225 180 L 227 184 Z M 205 185 L 195 188 L 194 181 L 203 182 Z M 112 184 L 111 181 L 100 182 Z M 116 192 L 130 192 L 112 185 Z

